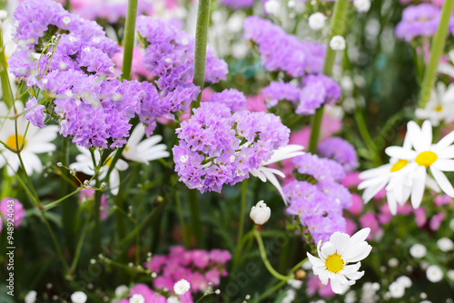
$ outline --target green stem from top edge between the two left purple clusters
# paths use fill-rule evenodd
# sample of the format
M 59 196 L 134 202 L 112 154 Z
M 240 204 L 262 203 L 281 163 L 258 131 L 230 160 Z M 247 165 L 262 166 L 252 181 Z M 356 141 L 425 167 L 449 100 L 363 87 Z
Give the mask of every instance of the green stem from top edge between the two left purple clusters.
M 135 18 L 137 17 L 137 0 L 128 0 L 126 24 L 124 25 L 123 79 L 131 80 L 133 48 L 135 36 Z

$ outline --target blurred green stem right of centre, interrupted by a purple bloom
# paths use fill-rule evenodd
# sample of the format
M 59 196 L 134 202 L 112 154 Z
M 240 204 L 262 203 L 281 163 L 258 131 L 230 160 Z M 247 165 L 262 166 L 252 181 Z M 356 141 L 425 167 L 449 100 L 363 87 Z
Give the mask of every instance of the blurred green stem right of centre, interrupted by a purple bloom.
M 454 0 L 453 0 L 454 1 Z M 335 35 L 343 34 L 345 30 L 345 19 L 347 17 L 347 11 L 349 8 L 349 0 L 338 0 L 334 5 L 334 13 L 332 15 L 331 23 L 331 34 L 326 47 L 325 61 L 323 63 L 322 73 L 327 76 L 332 75 L 332 66 L 336 60 L 336 51 L 330 47 L 332 37 Z M 324 107 L 321 107 L 315 112 L 311 119 L 311 138 L 309 140 L 308 151 L 311 153 L 317 152 L 317 144 L 319 142 L 320 131 L 321 131 L 321 120 L 323 118 Z

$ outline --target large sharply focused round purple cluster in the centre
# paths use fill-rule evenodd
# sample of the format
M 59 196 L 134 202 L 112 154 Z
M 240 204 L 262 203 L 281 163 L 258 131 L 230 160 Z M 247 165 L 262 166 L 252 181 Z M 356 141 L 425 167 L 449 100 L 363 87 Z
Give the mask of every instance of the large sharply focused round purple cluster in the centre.
M 287 145 L 290 130 L 267 112 L 235 112 L 223 103 L 202 103 L 177 129 L 175 171 L 190 189 L 222 191 L 249 178 L 249 172 Z

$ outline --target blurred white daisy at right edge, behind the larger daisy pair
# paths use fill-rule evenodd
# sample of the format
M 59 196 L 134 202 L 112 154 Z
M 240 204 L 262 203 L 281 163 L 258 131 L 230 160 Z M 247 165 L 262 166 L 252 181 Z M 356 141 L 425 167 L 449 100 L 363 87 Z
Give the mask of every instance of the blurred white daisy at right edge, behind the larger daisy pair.
M 418 119 L 429 120 L 432 125 L 438 126 L 439 122 L 454 121 L 454 84 L 449 84 L 448 89 L 444 83 L 437 83 L 437 88 L 430 93 L 429 102 L 424 109 L 417 109 L 415 114 Z

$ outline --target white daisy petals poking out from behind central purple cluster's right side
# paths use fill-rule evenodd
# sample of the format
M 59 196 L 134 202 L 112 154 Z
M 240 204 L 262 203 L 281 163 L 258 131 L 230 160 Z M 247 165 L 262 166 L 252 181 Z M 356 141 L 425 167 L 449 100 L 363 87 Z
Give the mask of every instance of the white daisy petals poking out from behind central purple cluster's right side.
M 259 178 L 263 182 L 270 181 L 270 183 L 274 185 L 281 194 L 281 197 L 284 200 L 285 204 L 287 204 L 287 200 L 285 199 L 285 195 L 283 194 L 281 183 L 275 176 L 276 174 L 278 176 L 281 176 L 282 178 L 285 178 L 285 174 L 282 171 L 271 169 L 265 166 L 270 165 L 271 163 L 276 163 L 282 160 L 291 159 L 293 157 L 299 156 L 304 153 L 301 152 L 303 149 L 304 149 L 303 146 L 297 144 L 290 144 L 281 147 L 280 149 L 274 151 L 269 161 L 262 163 L 262 167 L 251 171 L 252 176 Z

